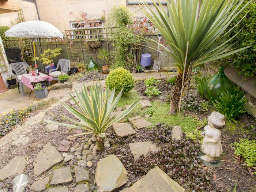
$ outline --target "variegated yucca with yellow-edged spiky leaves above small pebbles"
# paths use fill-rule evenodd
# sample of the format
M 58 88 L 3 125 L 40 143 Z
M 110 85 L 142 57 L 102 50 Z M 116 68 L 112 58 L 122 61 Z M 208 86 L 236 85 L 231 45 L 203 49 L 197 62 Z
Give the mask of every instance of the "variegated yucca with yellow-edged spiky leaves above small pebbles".
M 65 103 L 61 103 L 71 114 L 73 114 L 78 120 L 60 115 L 61 117 L 69 120 L 72 124 L 58 123 L 52 121 L 44 121 L 45 123 L 60 125 L 69 127 L 71 129 L 82 129 L 86 131 L 72 137 L 94 134 L 97 137 L 97 147 L 99 151 L 104 150 L 104 140 L 106 138 L 106 129 L 117 123 L 121 118 L 125 117 L 130 113 L 139 100 L 133 102 L 127 109 L 124 110 L 120 115 L 110 117 L 110 114 L 116 108 L 119 99 L 122 96 L 123 89 L 115 96 L 115 90 L 109 93 L 108 87 L 106 87 L 105 95 L 103 93 L 102 86 L 98 86 L 97 83 L 89 87 L 90 93 L 87 87 L 84 85 L 80 94 L 75 90 L 77 100 L 69 93 L 70 97 L 75 101 L 79 110 L 76 110 L 72 106 Z

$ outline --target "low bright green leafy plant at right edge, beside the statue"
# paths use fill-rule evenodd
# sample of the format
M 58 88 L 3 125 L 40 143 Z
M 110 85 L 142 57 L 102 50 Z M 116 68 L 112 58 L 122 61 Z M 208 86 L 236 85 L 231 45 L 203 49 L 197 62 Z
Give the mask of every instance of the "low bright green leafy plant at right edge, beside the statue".
M 256 141 L 254 139 L 240 139 L 240 142 L 233 144 L 236 146 L 235 154 L 241 155 L 249 167 L 256 166 Z

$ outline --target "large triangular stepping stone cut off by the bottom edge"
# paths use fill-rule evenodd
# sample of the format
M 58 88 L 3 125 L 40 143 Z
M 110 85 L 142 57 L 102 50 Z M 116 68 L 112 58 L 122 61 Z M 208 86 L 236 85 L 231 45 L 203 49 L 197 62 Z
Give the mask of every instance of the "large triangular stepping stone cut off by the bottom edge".
M 138 180 L 130 188 L 125 188 L 121 192 L 184 192 L 177 182 L 172 180 L 159 167 L 151 169 L 145 177 Z

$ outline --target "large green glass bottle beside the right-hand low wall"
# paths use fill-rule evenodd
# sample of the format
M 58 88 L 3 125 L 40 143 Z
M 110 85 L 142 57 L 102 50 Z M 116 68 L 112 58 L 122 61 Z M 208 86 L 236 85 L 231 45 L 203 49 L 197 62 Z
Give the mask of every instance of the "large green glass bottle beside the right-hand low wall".
M 217 74 L 208 79 L 204 84 L 204 97 L 216 98 L 219 93 L 229 90 L 233 83 L 224 74 L 224 67 L 219 67 Z

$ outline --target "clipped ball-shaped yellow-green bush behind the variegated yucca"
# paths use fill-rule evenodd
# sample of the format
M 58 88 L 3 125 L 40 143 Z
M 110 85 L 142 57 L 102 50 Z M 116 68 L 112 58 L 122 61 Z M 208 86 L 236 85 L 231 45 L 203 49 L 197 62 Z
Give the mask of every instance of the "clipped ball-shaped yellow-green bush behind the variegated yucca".
M 106 86 L 110 90 L 115 88 L 116 92 L 121 91 L 124 87 L 124 93 L 131 91 L 135 85 L 134 77 L 132 74 L 123 68 L 117 68 L 110 71 L 109 75 L 106 78 Z

